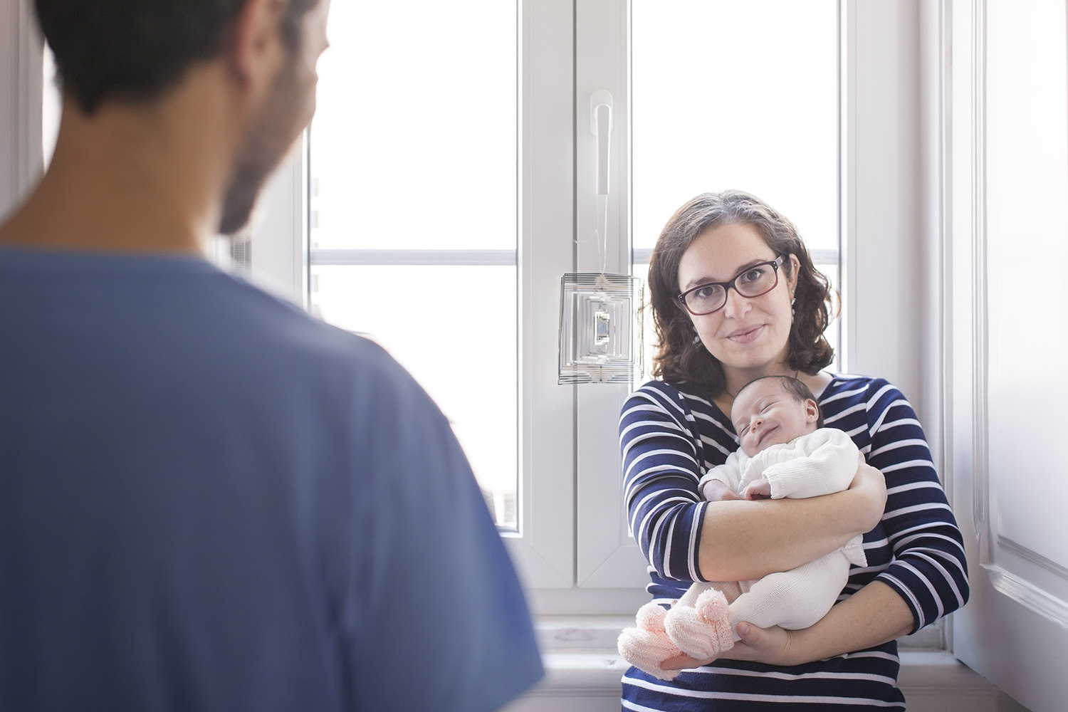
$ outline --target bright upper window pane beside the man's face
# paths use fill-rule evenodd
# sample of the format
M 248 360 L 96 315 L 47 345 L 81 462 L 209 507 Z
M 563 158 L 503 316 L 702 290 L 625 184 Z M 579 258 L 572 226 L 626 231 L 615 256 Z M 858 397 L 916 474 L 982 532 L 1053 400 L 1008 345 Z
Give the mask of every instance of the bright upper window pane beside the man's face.
M 313 248 L 516 247 L 516 4 L 335 2 Z

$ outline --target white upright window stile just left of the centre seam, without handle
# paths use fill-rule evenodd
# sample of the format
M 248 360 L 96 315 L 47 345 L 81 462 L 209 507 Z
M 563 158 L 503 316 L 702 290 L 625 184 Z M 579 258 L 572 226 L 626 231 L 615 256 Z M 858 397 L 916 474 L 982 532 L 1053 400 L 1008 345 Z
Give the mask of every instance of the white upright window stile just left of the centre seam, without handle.
M 572 0 L 520 10 L 519 535 L 508 552 L 529 589 L 567 594 L 575 560 L 574 386 L 556 384 L 560 278 L 574 271 Z M 554 596 L 532 598 L 560 613 Z M 566 606 L 566 604 L 565 604 Z

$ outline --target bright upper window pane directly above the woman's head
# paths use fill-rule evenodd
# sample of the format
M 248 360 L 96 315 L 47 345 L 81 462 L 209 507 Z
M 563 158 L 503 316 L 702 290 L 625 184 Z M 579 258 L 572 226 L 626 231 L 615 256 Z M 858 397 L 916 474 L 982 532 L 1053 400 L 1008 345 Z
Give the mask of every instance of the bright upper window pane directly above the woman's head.
M 736 188 L 838 248 L 836 0 L 632 0 L 633 244 Z

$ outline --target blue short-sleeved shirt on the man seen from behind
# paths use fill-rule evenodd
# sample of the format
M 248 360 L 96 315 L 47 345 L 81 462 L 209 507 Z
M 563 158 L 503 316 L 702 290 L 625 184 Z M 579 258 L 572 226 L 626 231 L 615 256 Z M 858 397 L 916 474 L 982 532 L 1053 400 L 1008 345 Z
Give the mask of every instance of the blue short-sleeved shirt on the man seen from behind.
M 0 249 L 0 709 L 471 712 L 540 677 L 379 347 L 185 257 Z

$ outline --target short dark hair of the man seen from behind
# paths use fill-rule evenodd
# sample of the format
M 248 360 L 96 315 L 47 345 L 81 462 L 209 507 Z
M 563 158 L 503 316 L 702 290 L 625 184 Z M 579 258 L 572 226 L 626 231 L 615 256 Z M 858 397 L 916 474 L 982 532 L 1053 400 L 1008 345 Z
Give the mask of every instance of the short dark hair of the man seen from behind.
M 92 114 L 105 99 L 150 100 L 189 65 L 219 53 L 248 0 L 34 0 L 64 94 Z M 283 41 L 300 45 L 304 13 L 319 0 L 289 0 Z

